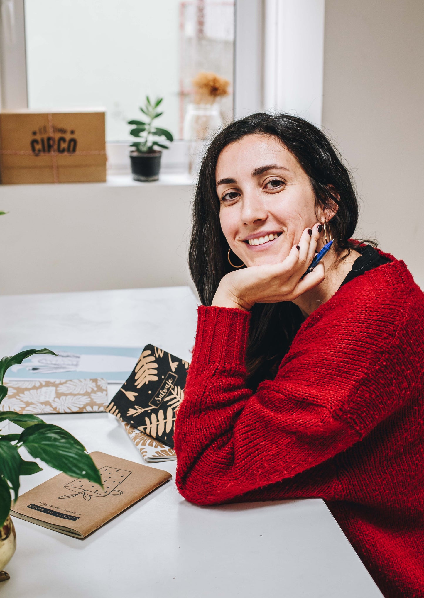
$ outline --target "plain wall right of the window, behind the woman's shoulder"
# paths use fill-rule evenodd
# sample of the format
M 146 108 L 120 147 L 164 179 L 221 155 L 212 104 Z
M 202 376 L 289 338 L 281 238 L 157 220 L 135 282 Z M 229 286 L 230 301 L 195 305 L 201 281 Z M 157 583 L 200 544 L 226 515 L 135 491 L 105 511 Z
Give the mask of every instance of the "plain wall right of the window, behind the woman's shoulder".
M 323 126 L 351 164 L 361 234 L 424 288 L 424 2 L 326 0 Z

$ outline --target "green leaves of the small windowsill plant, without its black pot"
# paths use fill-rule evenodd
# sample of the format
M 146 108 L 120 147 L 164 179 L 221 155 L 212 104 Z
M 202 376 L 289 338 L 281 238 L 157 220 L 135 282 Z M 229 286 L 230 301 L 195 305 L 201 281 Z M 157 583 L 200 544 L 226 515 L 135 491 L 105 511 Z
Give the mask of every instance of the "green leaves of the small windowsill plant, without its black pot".
M 163 98 L 156 98 L 155 102 L 150 102 L 149 96 L 146 96 L 146 103 L 140 106 L 141 112 L 146 115 L 144 120 L 129 120 L 128 124 L 134 124 L 134 129 L 129 132 L 133 137 L 140 138 L 141 141 L 134 142 L 133 147 L 138 154 L 148 154 L 161 149 L 168 149 L 166 141 L 174 141 L 172 133 L 168 129 L 160 129 L 153 126 L 153 121 L 162 116 L 163 112 L 158 112 L 158 107 Z

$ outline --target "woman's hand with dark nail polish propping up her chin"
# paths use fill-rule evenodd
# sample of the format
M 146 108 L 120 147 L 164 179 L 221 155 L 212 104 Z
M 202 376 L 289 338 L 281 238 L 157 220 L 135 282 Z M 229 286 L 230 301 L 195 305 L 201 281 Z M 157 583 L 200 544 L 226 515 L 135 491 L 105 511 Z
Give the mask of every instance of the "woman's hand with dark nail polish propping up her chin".
M 301 280 L 316 253 L 319 224 L 305 228 L 299 245 L 280 264 L 250 266 L 223 276 L 212 305 L 250 310 L 255 303 L 293 301 L 325 279 L 322 262 Z M 299 249 L 298 249 L 299 248 Z

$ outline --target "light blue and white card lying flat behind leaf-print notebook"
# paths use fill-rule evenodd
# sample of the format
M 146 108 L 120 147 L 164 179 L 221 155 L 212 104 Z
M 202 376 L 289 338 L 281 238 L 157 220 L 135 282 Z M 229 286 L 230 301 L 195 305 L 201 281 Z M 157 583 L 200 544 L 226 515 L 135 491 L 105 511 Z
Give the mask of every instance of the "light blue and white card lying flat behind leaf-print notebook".
M 134 370 L 141 347 L 74 347 L 66 345 L 31 344 L 25 349 L 52 350 L 55 355 L 38 353 L 13 365 L 6 380 L 71 380 L 75 378 L 105 378 L 123 383 Z

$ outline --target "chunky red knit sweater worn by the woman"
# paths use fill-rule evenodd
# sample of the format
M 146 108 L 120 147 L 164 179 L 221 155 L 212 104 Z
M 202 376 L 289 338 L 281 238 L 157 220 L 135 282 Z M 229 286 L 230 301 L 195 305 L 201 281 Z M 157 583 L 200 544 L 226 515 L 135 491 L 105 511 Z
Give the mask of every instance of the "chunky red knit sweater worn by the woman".
M 387 257 L 307 318 L 256 393 L 249 313 L 199 307 L 177 486 L 199 505 L 323 498 L 384 596 L 422 598 L 424 295 Z

